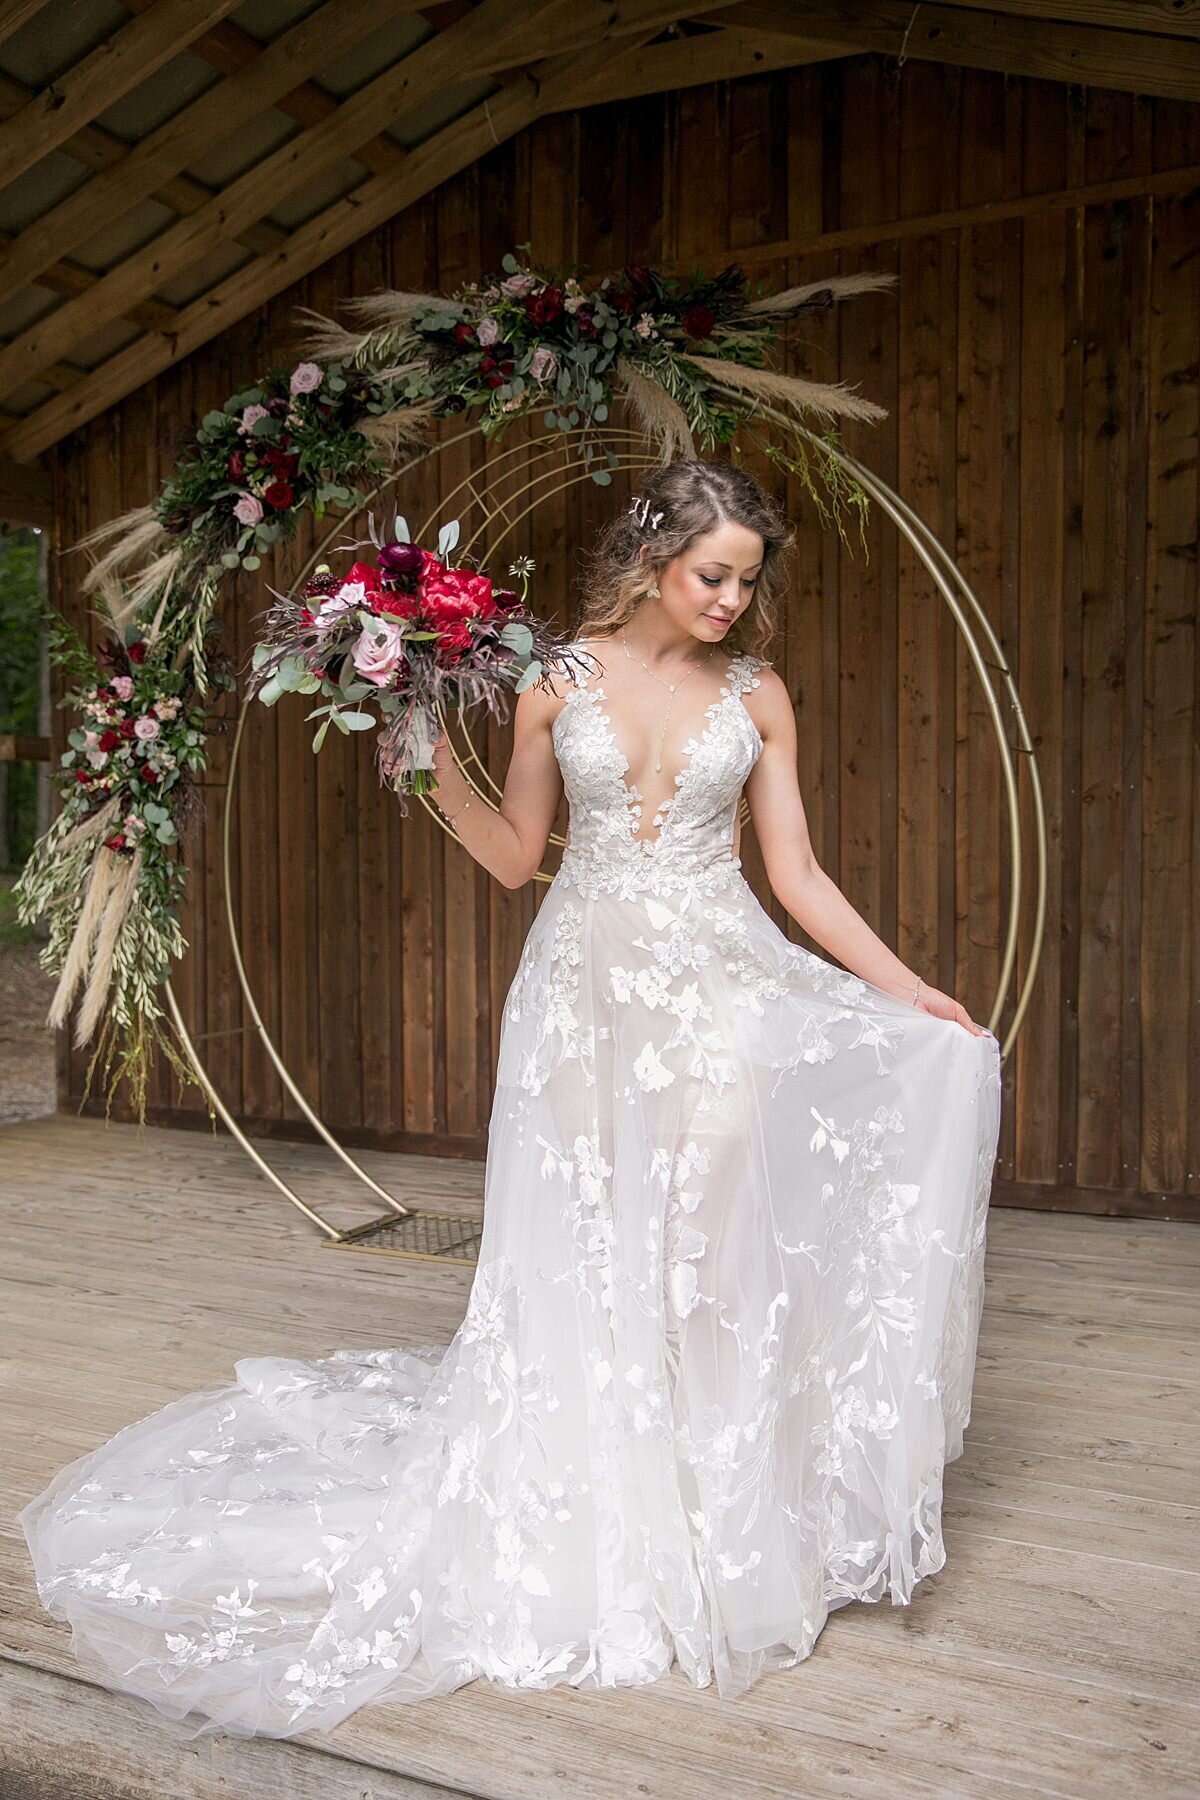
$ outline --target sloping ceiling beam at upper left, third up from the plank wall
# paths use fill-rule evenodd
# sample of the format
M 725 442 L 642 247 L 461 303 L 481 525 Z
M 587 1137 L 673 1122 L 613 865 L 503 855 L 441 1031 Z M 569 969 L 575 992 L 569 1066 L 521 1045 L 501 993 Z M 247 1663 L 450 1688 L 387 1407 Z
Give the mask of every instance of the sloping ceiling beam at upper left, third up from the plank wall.
M 86 243 L 164 180 L 259 117 L 313 68 L 349 50 L 390 13 L 408 11 L 410 5 L 412 0 L 326 0 L 237 74 L 218 81 L 121 160 L 34 220 L 0 254 L 0 301 L 36 281 L 49 263 Z

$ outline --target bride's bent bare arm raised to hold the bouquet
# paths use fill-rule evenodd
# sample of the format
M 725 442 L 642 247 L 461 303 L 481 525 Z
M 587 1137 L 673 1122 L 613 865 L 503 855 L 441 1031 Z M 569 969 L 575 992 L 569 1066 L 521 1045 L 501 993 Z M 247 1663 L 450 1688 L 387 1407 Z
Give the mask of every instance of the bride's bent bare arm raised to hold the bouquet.
M 551 740 L 558 707 L 558 697 L 543 688 L 527 688 L 516 697 L 513 756 L 498 812 L 473 794 L 444 734 L 434 747 L 435 805 L 453 819 L 464 848 L 506 887 L 524 887 L 542 866 L 563 794 Z

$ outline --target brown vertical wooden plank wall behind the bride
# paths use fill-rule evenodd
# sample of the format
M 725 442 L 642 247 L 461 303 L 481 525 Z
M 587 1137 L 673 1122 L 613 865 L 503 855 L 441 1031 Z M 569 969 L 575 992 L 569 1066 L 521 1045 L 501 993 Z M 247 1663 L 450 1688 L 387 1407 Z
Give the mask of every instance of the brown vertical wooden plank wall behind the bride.
M 522 241 L 594 272 L 702 254 L 772 284 L 896 270 L 894 293 L 806 324 L 793 365 L 889 407 L 883 425 L 847 428 L 847 446 L 961 560 L 1036 742 L 1047 932 L 1007 1062 L 997 1197 L 1200 1215 L 1200 189 L 1137 191 L 1195 164 L 1200 106 L 880 58 L 551 117 L 63 443 L 58 603 L 83 617 L 68 547 L 149 499 L 187 425 L 290 355 L 297 302 L 452 288 Z M 1029 200 L 1123 178 L 1135 191 L 1103 203 Z M 1016 216 L 988 212 L 1022 198 Z M 975 212 L 896 236 L 896 221 L 954 209 Z M 426 518 L 518 441 L 448 450 L 405 481 L 403 511 Z M 531 517 L 520 549 L 547 612 L 570 619 L 581 547 L 624 493 L 576 484 Z M 797 482 L 786 499 L 802 529 L 777 668 L 817 851 L 907 959 L 986 1015 L 1009 869 L 981 691 L 878 515 L 869 556 L 851 554 Z M 230 596 L 237 661 L 264 603 L 250 583 Z M 504 733 L 488 751 L 500 772 Z M 255 709 L 243 758 L 234 907 L 288 1067 L 349 1141 L 480 1154 L 500 1006 L 542 889 L 511 895 L 421 810 L 401 819 L 362 743 L 313 760 L 300 706 Z M 227 769 L 228 738 L 187 844 L 178 992 L 228 1103 L 286 1136 L 299 1109 L 248 1030 L 225 941 Z M 1027 841 L 1027 866 L 1031 853 Z M 799 936 L 752 842 L 745 860 Z M 1029 929 L 1022 967 L 1027 954 Z M 63 1105 L 79 1102 L 83 1060 L 63 1046 Z M 166 1078 L 153 1102 L 158 1120 L 203 1121 Z

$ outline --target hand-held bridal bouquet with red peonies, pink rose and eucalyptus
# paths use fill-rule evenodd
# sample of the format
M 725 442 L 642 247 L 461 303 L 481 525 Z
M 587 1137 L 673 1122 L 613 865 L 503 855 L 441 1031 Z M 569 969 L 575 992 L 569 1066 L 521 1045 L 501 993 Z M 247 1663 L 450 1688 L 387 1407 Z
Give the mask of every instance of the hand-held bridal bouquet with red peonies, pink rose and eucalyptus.
M 264 706 L 284 693 L 322 697 L 308 713 L 320 720 L 313 751 L 329 725 L 347 736 L 381 724 L 376 763 L 401 805 L 437 785 L 443 709 L 482 704 L 504 718 L 511 693 L 581 661 L 525 605 L 529 556 L 509 565 L 518 594 L 479 569 L 453 567 L 446 558 L 457 542 L 457 520 L 443 526 L 434 554 L 410 542 L 403 518 L 387 542 L 372 518 L 374 560 L 342 576 L 322 563 L 299 598 L 275 594 L 254 648 L 248 686 Z

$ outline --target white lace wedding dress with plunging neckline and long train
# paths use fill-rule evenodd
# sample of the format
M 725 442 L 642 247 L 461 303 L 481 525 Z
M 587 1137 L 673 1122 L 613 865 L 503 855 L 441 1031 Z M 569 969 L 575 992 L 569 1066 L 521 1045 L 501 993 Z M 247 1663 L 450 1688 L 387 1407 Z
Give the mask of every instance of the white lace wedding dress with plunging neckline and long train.
M 477 1676 L 678 1660 L 732 1696 L 941 1568 L 999 1044 L 754 898 L 759 666 L 730 666 L 657 839 L 603 689 L 554 720 L 570 844 L 506 1003 L 452 1343 L 245 1359 L 20 1514 L 104 1685 L 275 1737 Z

